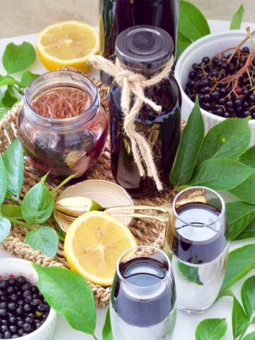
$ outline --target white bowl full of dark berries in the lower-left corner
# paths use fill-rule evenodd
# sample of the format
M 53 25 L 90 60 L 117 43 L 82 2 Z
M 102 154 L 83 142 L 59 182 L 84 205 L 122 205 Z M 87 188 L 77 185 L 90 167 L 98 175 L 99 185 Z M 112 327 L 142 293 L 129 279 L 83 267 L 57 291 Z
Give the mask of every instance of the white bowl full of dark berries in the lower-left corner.
M 29 261 L 0 260 L 0 339 L 50 340 L 57 313 L 37 286 Z

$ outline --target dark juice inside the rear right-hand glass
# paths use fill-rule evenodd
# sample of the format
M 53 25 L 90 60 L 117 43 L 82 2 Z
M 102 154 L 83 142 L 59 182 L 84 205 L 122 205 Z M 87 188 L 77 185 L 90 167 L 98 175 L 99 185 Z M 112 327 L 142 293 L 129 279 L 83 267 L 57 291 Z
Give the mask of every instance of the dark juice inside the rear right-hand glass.
M 200 264 L 217 258 L 226 249 L 226 221 L 220 211 L 208 203 L 186 203 L 176 209 L 180 220 L 166 229 L 166 243 L 181 261 Z M 215 224 L 205 227 L 214 221 Z M 223 224 L 223 225 L 222 225 Z

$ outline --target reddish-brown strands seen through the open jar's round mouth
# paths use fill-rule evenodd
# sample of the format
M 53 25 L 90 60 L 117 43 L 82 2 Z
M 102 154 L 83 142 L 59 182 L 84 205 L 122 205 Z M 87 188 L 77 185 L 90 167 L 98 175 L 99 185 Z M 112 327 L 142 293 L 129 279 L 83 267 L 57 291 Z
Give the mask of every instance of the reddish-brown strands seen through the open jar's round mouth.
M 46 118 L 72 118 L 90 108 L 91 96 L 84 90 L 73 87 L 50 89 L 36 97 L 31 107 Z

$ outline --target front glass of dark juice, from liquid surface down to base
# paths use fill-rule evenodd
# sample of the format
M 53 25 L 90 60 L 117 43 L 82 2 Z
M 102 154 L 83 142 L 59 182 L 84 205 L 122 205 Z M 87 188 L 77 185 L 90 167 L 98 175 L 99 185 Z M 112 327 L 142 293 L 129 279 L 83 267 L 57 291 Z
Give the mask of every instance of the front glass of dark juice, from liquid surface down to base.
M 113 339 L 171 339 L 176 322 L 174 279 L 168 263 L 131 259 L 120 266 L 111 296 Z

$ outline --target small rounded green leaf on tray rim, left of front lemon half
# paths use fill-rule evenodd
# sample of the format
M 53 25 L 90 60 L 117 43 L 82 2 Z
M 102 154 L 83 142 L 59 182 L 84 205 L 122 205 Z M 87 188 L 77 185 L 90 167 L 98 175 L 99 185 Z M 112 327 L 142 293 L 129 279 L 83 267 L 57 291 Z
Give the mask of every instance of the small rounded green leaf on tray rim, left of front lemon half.
M 58 242 L 57 232 L 50 227 L 40 227 L 26 234 L 26 243 L 49 257 L 57 254 Z

